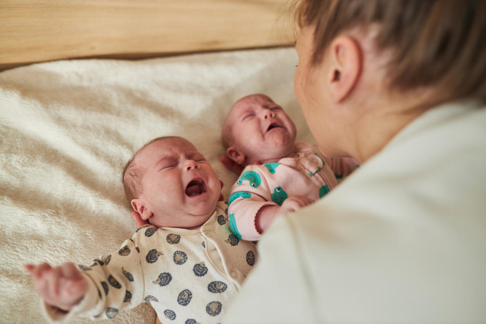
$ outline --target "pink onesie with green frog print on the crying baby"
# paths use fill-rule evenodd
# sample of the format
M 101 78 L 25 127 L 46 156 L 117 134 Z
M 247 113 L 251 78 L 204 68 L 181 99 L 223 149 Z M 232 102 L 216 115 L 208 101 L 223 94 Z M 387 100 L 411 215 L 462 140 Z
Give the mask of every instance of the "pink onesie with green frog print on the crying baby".
M 315 201 L 356 167 L 354 158 L 325 157 L 307 142 L 295 144 L 293 157 L 247 166 L 231 187 L 229 229 L 238 238 L 258 240 L 261 234 L 255 227 L 255 217 L 263 206 L 281 206 L 287 197 L 296 194 Z

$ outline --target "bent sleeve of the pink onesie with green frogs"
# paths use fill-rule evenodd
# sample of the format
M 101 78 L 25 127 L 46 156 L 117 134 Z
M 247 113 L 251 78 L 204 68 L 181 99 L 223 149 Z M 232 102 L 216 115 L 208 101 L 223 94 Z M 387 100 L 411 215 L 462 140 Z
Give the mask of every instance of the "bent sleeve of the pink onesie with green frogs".
M 231 187 L 228 200 L 231 232 L 245 240 L 260 239 L 261 233 L 257 231 L 255 218 L 264 206 L 277 206 L 272 201 L 265 173 L 261 166 L 248 166 Z

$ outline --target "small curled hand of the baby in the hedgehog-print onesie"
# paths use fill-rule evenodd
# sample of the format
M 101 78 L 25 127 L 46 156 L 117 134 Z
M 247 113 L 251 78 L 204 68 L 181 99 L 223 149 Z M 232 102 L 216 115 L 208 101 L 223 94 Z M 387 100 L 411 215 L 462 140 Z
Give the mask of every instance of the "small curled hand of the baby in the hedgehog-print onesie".
M 27 264 L 35 289 L 44 301 L 64 311 L 78 304 L 88 291 L 88 281 L 74 263 L 52 268 L 48 263 Z

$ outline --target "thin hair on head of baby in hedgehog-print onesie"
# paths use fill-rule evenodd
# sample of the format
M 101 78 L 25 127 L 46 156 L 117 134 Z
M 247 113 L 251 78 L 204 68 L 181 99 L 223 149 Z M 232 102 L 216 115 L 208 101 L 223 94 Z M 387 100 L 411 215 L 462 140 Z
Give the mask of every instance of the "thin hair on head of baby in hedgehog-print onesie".
M 137 154 L 143 150 L 148 145 L 152 144 L 153 142 L 157 142 L 160 140 L 167 140 L 171 138 L 180 138 L 179 136 L 162 136 L 154 138 L 151 141 L 145 143 L 133 156 L 128 160 L 127 164 L 123 168 L 123 173 L 121 175 L 121 182 L 123 182 L 123 188 L 125 189 L 125 196 L 127 197 L 128 201 L 132 201 L 132 199 L 137 198 L 140 196 L 143 190 L 142 186 L 142 178 L 145 174 L 145 169 L 138 165 L 134 159 Z

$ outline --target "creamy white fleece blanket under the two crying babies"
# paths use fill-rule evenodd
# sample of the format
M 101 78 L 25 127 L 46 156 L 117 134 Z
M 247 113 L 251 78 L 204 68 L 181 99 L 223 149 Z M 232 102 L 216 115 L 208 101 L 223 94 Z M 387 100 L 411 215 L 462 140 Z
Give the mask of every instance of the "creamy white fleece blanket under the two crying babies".
M 313 142 L 293 91 L 292 48 L 142 61 L 69 60 L 0 73 L 0 323 L 43 323 L 25 263 L 90 265 L 131 237 L 121 171 L 145 142 L 192 141 L 225 183 L 223 119 L 242 96 L 286 109 Z M 148 304 L 111 322 L 153 323 Z M 75 323 L 91 322 L 76 319 Z

